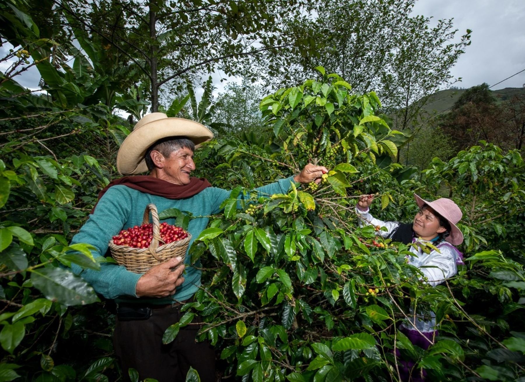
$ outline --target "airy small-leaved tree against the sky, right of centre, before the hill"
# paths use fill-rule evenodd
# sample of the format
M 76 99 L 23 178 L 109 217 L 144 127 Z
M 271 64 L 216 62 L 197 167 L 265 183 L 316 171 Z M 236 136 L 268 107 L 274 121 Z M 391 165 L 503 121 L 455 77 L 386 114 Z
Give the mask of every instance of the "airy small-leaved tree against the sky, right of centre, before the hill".
M 376 91 L 395 127 L 411 127 L 428 97 L 454 82 L 450 68 L 470 44 L 470 30 L 457 38 L 452 19 L 414 16 L 416 0 L 341 0 L 318 4 L 317 18 L 305 15 L 288 24 L 296 49 L 289 78 L 322 65 L 341 73 L 359 92 Z M 314 44 L 317 55 L 301 49 Z M 453 42 L 456 40 L 456 42 Z

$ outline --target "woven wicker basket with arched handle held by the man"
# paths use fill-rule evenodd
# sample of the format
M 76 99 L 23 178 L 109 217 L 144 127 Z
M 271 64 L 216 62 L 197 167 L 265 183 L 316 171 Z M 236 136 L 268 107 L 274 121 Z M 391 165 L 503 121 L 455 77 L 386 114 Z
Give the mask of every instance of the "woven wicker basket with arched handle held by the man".
M 181 264 L 184 264 L 186 250 L 192 238 L 192 235 L 187 232 L 187 238 L 159 246 L 159 244 L 164 241 L 160 236 L 159 214 L 157 213 L 155 204 L 148 204 L 146 206 L 142 224 L 148 224 L 150 222 L 150 211 L 153 221 L 153 238 L 148 248 L 117 245 L 113 244 L 113 240 L 109 242 L 109 249 L 111 250 L 113 259 L 115 259 L 119 265 L 124 265 L 128 271 L 134 273 L 148 272 L 152 266 L 159 265 L 177 256 L 182 257 Z

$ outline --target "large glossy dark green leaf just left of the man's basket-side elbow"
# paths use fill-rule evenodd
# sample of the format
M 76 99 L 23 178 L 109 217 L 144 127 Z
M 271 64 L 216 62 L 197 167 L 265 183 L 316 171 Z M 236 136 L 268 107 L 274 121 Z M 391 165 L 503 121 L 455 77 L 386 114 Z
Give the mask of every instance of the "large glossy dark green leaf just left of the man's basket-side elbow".
M 49 300 L 61 304 L 86 305 L 99 301 L 93 288 L 82 278 L 61 268 L 39 268 L 31 270 L 33 286 Z

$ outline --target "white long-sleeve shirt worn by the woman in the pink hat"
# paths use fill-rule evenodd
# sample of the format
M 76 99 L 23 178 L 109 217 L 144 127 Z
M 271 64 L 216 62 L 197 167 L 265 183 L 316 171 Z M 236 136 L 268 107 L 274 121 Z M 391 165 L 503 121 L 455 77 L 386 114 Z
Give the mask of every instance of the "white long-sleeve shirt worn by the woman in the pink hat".
M 397 222 L 384 222 L 382 220 L 374 218 L 370 214 L 370 210 L 362 211 L 356 208 L 355 211 L 359 214 L 359 225 L 379 225 L 385 227 L 386 231 L 380 230 L 376 232 L 376 235 L 380 235 L 383 238 L 387 238 L 398 226 Z M 413 243 L 421 242 L 428 243 L 428 241 L 421 238 L 414 238 Z M 452 244 L 441 241 L 437 243 L 436 248 L 439 250 L 431 250 L 430 253 L 425 253 L 418 245 L 411 245 L 409 251 L 413 255 L 407 255 L 408 263 L 417 266 L 419 270 L 428 278 L 426 283 L 436 286 L 446 278 L 452 277 L 457 273 L 457 263 L 461 263 L 460 252 Z M 427 268 L 428 267 L 428 268 Z M 414 313 L 411 314 L 410 321 L 419 329 L 421 332 L 433 332 L 435 331 L 436 319 L 434 312 L 430 312 L 429 321 L 420 319 L 422 315 Z M 413 329 L 413 326 L 409 323 L 403 323 L 407 329 Z

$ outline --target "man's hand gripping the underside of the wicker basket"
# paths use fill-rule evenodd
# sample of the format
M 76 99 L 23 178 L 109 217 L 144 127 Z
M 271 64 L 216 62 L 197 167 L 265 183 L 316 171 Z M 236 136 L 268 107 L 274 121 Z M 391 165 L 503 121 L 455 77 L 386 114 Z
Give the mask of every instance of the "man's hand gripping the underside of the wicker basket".
M 180 256 L 174 257 L 165 263 L 155 265 L 144 273 L 137 282 L 135 294 L 137 297 L 167 297 L 175 294 L 177 286 L 184 282 L 182 272 L 184 264 L 181 264 Z M 181 265 L 179 265 L 181 264 Z M 174 267 L 177 269 L 172 270 Z

